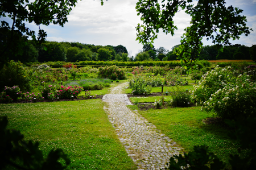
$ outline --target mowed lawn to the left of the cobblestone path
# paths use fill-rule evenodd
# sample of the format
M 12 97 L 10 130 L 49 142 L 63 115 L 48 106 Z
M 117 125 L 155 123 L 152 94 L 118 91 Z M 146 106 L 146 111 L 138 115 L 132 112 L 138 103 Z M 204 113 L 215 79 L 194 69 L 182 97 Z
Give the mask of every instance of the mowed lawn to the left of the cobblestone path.
M 8 128 L 25 140 L 40 142 L 46 156 L 61 148 L 71 159 L 67 169 L 137 169 L 119 142 L 100 99 L 1 104 Z M 8 169 L 8 168 L 7 168 Z

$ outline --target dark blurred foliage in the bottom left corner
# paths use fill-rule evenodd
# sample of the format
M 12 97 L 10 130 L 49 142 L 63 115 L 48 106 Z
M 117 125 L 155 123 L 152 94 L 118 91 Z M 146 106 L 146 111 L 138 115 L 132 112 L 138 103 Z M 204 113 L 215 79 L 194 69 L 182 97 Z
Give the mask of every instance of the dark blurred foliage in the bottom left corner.
M 7 124 L 7 117 L 0 117 L 0 169 L 65 169 L 70 164 L 61 149 L 51 150 L 44 158 L 38 142 L 24 141 L 24 135 L 20 131 L 7 129 Z M 60 159 L 65 161 L 64 166 Z

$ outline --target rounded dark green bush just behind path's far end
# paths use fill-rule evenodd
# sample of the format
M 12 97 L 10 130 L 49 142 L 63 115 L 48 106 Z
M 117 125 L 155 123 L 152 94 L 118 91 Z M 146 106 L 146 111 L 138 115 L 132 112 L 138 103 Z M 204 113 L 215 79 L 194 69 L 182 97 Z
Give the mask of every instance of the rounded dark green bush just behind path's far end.
M 124 80 L 126 78 L 125 71 L 116 65 L 100 67 L 98 76 L 103 78 L 110 78 L 111 80 Z

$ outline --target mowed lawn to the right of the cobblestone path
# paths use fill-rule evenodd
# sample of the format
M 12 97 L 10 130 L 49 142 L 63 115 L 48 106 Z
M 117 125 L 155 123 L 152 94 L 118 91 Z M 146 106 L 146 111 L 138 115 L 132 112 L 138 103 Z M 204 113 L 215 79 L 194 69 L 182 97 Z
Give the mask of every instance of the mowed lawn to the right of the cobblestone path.
M 139 110 L 137 106 L 129 106 Z M 245 156 L 245 151 L 238 153 L 240 145 L 228 137 L 229 131 L 220 125 L 205 125 L 203 119 L 212 114 L 200 111 L 200 107 L 171 108 L 161 110 L 139 110 L 144 118 L 153 123 L 169 138 L 180 144 L 186 152 L 193 151 L 193 146 L 207 145 L 210 152 L 228 163 L 230 154 Z

